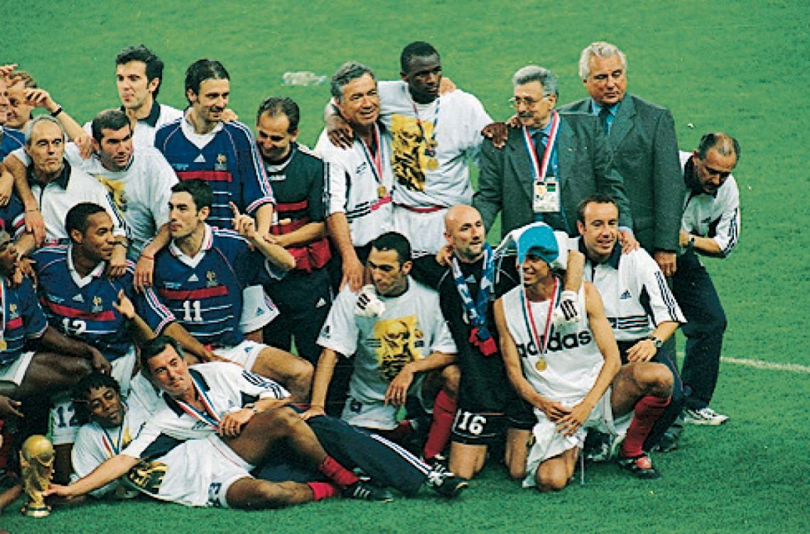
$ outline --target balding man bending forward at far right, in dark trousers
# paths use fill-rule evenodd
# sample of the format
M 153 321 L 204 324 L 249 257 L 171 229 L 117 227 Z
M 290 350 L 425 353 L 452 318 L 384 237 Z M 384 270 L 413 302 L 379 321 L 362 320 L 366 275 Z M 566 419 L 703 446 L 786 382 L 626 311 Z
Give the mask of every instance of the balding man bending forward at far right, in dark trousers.
M 686 356 L 681 377 L 684 389 L 692 391 L 684 402 L 684 420 L 696 425 L 728 420 L 709 408 L 720 371 L 726 314 L 697 254 L 724 258 L 740 238 L 740 191 L 731 176 L 739 159 L 740 143 L 722 133 L 706 134 L 697 150 L 680 153 L 687 192 L 679 238 L 683 253 L 672 293 L 688 321 L 683 326 Z

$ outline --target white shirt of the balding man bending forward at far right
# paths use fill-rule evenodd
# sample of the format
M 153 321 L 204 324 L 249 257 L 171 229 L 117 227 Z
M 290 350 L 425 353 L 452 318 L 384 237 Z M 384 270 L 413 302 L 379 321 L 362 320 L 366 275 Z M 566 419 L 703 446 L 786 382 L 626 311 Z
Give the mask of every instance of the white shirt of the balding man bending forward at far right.
M 680 153 L 681 171 L 691 157 L 689 152 Z M 740 239 L 740 189 L 734 176 L 727 178 L 716 195 L 687 189 L 680 229 L 714 239 L 723 257 L 731 254 Z

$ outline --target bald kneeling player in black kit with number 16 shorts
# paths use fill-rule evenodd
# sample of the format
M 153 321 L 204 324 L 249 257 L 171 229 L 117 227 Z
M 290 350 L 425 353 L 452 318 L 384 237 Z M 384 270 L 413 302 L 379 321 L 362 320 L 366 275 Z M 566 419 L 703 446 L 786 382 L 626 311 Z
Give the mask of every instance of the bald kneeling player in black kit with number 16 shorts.
M 451 207 L 445 214 L 444 235 L 443 252 L 449 260 L 441 252 L 435 258 L 420 258 L 411 273 L 439 291 L 441 312 L 458 347 L 457 365 L 445 370 L 445 387 L 433 406 L 433 426 L 441 425 L 442 418 L 449 420 L 450 471 L 471 478 L 484 467 L 487 448 L 498 443 L 504 431 L 509 463 L 514 430 L 530 430 L 535 423 L 531 409 L 518 401 L 506 378 L 489 305 L 517 286 L 520 278 L 513 259 L 495 261 L 484 221 L 474 207 Z M 582 265 L 581 257 L 579 262 Z M 447 438 L 440 443 L 440 435 L 431 429 L 426 460 L 444 447 Z M 433 439 L 436 443 L 431 443 Z

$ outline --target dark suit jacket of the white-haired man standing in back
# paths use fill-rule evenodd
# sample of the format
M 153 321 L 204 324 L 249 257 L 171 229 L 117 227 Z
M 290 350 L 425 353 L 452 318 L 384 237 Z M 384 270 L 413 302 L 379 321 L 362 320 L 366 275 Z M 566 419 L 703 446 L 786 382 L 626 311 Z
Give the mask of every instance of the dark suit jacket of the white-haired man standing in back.
M 563 109 L 590 112 L 590 98 Z M 625 95 L 608 136 L 613 166 L 625 179 L 633 233 L 650 254 L 678 250 L 683 212 L 675 124 L 667 108 Z

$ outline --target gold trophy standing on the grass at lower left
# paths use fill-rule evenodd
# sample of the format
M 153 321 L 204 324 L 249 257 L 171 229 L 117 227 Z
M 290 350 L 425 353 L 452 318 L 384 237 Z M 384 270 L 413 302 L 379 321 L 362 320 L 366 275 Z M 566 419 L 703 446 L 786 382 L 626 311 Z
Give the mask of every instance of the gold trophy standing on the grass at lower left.
M 28 517 L 45 517 L 50 507 L 45 504 L 42 492 L 48 489 L 53 477 L 53 445 L 42 435 L 33 435 L 23 442 L 19 451 L 19 468 L 23 475 L 23 491 L 28 502 L 23 514 Z

